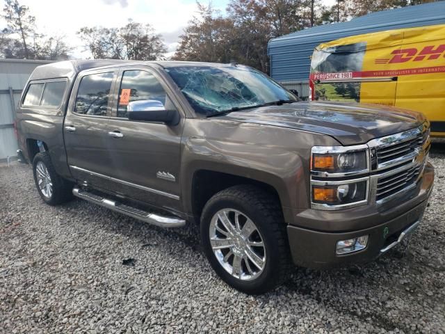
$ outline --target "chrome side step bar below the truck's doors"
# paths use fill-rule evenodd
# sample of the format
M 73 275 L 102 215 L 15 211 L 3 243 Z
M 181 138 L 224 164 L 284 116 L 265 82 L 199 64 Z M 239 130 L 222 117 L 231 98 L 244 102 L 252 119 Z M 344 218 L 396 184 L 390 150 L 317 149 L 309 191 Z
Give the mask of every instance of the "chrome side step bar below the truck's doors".
M 145 223 L 160 226 L 161 228 L 181 228 L 182 226 L 186 225 L 186 221 L 179 217 L 161 216 L 159 214 L 155 214 L 154 212 L 147 212 L 136 209 L 136 207 L 129 207 L 128 205 L 124 205 L 115 200 L 109 200 L 108 198 L 97 196 L 94 193 L 90 193 L 90 191 L 79 189 L 76 186 L 74 189 L 72 189 L 72 193 L 76 197 L 82 198 L 83 200 L 88 200 L 88 202 L 112 209 L 115 212 L 120 212 L 121 214 L 136 218 L 140 221 L 145 221 Z

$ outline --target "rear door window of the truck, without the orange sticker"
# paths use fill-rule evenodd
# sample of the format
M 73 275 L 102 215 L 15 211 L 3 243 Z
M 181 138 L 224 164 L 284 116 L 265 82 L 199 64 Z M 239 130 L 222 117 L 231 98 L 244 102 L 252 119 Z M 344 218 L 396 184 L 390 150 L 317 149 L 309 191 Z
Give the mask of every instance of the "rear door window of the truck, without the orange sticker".
M 82 115 L 106 116 L 113 72 L 95 73 L 81 79 L 74 112 Z

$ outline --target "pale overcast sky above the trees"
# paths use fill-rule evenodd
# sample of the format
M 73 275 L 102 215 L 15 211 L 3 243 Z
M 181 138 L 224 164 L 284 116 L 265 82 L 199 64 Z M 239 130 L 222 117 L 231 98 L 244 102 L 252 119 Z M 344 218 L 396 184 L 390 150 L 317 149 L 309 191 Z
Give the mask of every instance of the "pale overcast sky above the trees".
M 335 0 L 322 0 L 331 5 Z M 207 0 L 200 1 L 208 3 Z M 229 0 L 212 0 L 213 7 L 225 12 Z M 1 8 L 4 1 L 0 0 Z M 67 44 L 75 47 L 73 56 L 86 58 L 82 42 L 76 31 L 82 26 L 120 27 L 129 19 L 152 24 L 156 33 L 161 33 L 172 54 L 187 22 L 193 17 L 197 6 L 195 0 L 19 0 L 29 6 L 36 17 L 38 30 L 49 35 L 65 35 Z M 0 23 L 0 27 L 4 22 Z

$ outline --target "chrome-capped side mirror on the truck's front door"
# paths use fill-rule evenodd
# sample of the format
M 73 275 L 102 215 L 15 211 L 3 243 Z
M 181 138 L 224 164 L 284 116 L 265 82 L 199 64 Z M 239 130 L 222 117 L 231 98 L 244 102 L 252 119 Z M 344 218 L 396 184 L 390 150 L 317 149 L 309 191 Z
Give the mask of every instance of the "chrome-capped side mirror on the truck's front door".
M 145 120 L 146 122 L 163 122 L 177 125 L 179 113 L 176 110 L 165 110 L 162 102 L 157 100 L 132 101 L 127 105 L 129 120 Z

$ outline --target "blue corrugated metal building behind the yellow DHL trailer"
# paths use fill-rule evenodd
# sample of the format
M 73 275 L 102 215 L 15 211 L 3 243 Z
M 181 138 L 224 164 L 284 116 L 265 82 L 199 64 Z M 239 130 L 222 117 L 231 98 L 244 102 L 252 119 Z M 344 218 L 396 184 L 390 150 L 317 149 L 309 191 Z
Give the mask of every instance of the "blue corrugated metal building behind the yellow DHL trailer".
M 362 33 L 445 24 L 445 1 L 371 13 L 273 38 L 268 43 L 270 76 L 300 97 L 309 96 L 310 56 L 324 42 Z

